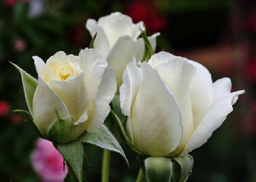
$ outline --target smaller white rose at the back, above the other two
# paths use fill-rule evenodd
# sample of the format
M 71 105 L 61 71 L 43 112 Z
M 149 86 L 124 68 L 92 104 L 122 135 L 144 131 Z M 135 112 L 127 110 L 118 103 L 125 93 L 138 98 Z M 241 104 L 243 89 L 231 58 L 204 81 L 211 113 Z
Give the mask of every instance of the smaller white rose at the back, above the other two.
M 139 38 L 141 30 L 144 29 L 143 22 L 133 23 L 130 16 L 121 12 L 113 12 L 108 16 L 101 17 L 98 22 L 88 19 L 86 28 L 93 37 L 97 32 L 93 48 L 99 50 L 100 54 L 106 57 L 110 67 L 114 68 L 117 87 L 122 84 L 122 75 L 125 66 L 135 57 L 141 61 L 144 54 L 144 41 Z M 148 37 L 152 49 L 156 47 L 156 37 L 160 33 L 155 33 Z

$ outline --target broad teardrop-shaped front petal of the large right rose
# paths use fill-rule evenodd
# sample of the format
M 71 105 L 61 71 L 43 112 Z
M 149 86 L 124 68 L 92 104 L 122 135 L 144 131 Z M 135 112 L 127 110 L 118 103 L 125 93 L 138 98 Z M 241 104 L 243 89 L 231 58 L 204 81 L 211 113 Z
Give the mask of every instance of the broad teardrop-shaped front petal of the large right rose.
M 138 69 L 134 63 L 128 66 L 135 66 L 135 70 Z M 146 62 L 143 62 L 141 67 L 143 82 L 132 103 L 133 108 L 127 121 L 127 129 L 137 150 L 146 155 L 163 156 L 173 151 L 180 142 L 182 135 L 180 109 L 172 92 L 161 81 L 160 75 Z M 130 70 L 132 70 L 131 67 Z M 129 73 L 129 75 L 133 74 Z M 138 88 L 138 83 L 131 84 L 134 84 L 131 85 L 132 88 Z M 121 92 L 121 102 L 123 93 Z M 159 120 L 159 117 L 162 119 Z M 180 122 L 176 122 L 177 120 Z M 170 140 L 159 140 L 162 137 Z

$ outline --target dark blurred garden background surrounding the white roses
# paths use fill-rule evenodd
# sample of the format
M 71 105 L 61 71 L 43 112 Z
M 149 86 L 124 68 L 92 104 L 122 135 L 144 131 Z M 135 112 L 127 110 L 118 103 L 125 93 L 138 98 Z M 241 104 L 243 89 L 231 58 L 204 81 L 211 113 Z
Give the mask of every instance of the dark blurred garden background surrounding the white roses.
M 149 35 L 160 32 L 156 52 L 166 50 L 200 62 L 213 81 L 230 77 L 233 90 L 246 90 L 234 111 L 205 145 L 192 151 L 189 181 L 256 181 L 256 2 L 254 0 L 52 1 L 0 2 L 0 181 L 45 181 L 32 166 L 36 134 L 11 113 L 27 110 L 18 71 L 37 77 L 32 56 L 47 60 L 59 50 L 78 54 L 89 46 L 88 18 L 120 11 L 144 21 Z M 122 145 L 123 146 L 123 145 Z M 138 163 L 112 153 L 110 181 L 135 181 Z M 100 181 L 102 149 L 87 145 L 84 175 Z M 49 166 L 53 159 L 48 159 Z

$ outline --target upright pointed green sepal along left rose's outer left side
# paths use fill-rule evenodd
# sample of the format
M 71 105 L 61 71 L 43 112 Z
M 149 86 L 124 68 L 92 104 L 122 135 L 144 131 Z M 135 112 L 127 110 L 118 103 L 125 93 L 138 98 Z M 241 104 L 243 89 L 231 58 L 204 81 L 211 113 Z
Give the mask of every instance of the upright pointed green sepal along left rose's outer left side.
M 19 71 L 22 77 L 22 84 L 24 89 L 24 95 L 27 102 L 28 110 L 30 111 L 31 115 L 33 113 L 33 99 L 36 87 L 38 86 L 38 81 L 33 78 L 30 74 L 26 73 L 26 71 L 22 70 L 19 66 L 10 62 L 16 69 Z

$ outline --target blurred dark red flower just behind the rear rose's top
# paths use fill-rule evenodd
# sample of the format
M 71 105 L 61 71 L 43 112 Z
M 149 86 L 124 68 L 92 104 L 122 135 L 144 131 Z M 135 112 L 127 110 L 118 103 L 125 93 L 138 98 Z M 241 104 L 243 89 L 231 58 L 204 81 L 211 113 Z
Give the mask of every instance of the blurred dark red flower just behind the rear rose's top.
M 134 23 L 143 21 L 148 32 L 162 31 L 167 27 L 167 20 L 160 15 L 154 2 L 134 1 L 126 9 Z

